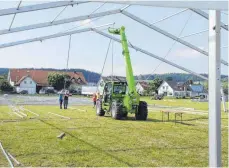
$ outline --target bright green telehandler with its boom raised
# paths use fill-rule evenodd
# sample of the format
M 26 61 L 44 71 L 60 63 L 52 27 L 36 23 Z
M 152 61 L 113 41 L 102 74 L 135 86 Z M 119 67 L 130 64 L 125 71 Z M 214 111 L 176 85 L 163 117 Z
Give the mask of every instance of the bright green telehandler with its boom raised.
M 134 113 L 136 120 L 146 120 L 148 116 L 147 103 L 140 101 L 140 95 L 136 91 L 125 27 L 122 26 L 120 29 L 109 28 L 108 31 L 121 36 L 126 80 L 110 80 L 101 85 L 102 96 L 96 102 L 96 115 L 104 116 L 105 112 L 108 112 L 111 113 L 112 118 L 119 120 L 126 118 L 128 113 Z

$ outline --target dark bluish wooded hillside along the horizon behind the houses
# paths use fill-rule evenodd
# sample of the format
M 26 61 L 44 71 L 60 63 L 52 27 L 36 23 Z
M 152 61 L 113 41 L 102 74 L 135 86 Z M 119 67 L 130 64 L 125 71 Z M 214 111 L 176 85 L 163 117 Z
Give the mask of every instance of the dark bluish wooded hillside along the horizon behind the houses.
M 33 69 L 33 68 L 28 68 L 28 69 Z M 53 71 L 65 71 L 65 69 L 54 69 L 54 68 L 40 68 L 43 70 L 53 70 Z M 0 75 L 7 74 L 9 71 L 8 68 L 0 68 Z M 76 71 L 76 72 L 82 72 L 85 79 L 87 82 L 95 82 L 97 83 L 99 81 L 100 75 L 99 73 L 96 72 L 91 72 L 85 69 L 69 69 L 68 71 Z M 207 74 L 201 74 L 203 76 L 208 77 Z M 136 80 L 153 80 L 155 78 L 160 78 L 162 80 L 167 79 L 168 77 L 172 78 L 174 81 L 179 81 L 179 82 L 185 82 L 187 80 L 193 80 L 193 81 L 203 81 L 203 79 L 196 77 L 191 74 L 185 74 L 185 73 L 166 73 L 166 74 L 154 74 L 154 75 L 140 75 L 140 76 L 135 76 Z M 228 80 L 227 75 L 221 75 L 221 78 L 223 81 Z

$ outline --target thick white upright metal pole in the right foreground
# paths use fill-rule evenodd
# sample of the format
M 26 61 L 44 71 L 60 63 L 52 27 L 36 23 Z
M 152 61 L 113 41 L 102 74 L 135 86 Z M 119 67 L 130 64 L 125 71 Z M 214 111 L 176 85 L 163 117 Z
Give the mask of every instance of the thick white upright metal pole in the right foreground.
M 209 10 L 209 167 L 221 167 L 220 11 Z

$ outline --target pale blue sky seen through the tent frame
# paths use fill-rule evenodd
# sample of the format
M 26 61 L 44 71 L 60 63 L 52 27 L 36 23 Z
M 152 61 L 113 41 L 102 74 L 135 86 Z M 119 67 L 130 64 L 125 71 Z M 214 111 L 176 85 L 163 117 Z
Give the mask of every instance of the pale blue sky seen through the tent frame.
M 48 1 L 22 1 L 21 6 L 46 2 Z M 18 3 L 19 1 L 0 1 L 0 10 L 6 8 L 15 8 L 17 7 Z M 100 5 L 101 3 L 91 2 L 75 5 L 73 7 L 68 6 L 57 18 L 57 20 L 87 15 Z M 97 12 L 118 9 L 124 6 L 125 5 L 107 3 L 103 5 Z M 12 28 L 52 21 L 63 8 L 64 7 L 59 7 L 17 14 Z M 126 9 L 126 11 L 137 15 L 149 23 L 154 23 L 181 10 L 183 9 L 147 6 L 130 6 Z M 226 14 L 221 14 L 221 20 L 225 24 L 228 24 L 227 11 L 224 13 Z M 0 30 L 9 29 L 12 18 L 13 15 L 0 16 Z M 166 57 L 167 60 L 170 60 L 197 73 L 208 73 L 207 56 L 200 54 L 180 43 L 175 43 L 174 45 L 174 41 L 170 38 L 161 35 L 160 33 L 155 32 L 154 30 L 145 27 L 144 25 L 141 25 L 136 21 L 133 21 L 122 14 L 109 15 L 96 21 L 90 21 L 91 20 L 84 20 L 64 25 L 1 35 L 0 44 L 63 32 L 87 22 L 89 22 L 89 24 L 81 26 L 78 29 L 115 22 L 114 27 L 126 27 L 126 36 L 131 44 L 136 45 L 160 57 L 165 57 L 171 46 L 173 46 L 171 52 Z M 184 26 L 186 22 L 187 24 Z M 179 15 L 156 23 L 155 26 L 168 31 L 173 35 L 184 36 L 202 30 L 207 30 L 208 21 L 191 12 L 190 10 L 186 10 Z M 182 29 L 183 32 L 181 33 Z M 73 30 L 77 30 L 77 28 Z M 108 33 L 107 29 L 103 31 Z M 228 46 L 227 31 L 221 29 L 221 35 L 221 45 Z M 120 37 L 117 36 L 117 38 Z M 71 49 L 68 64 L 69 68 L 82 68 L 101 73 L 110 40 L 94 32 L 74 34 L 72 35 L 71 39 Z M 187 37 L 184 38 L 184 40 L 205 51 L 208 51 L 208 32 Z M 33 42 L 9 48 L 2 48 L 0 49 L 0 56 L 2 57 L 0 61 L 0 67 L 64 69 L 67 65 L 68 45 L 69 36 L 65 36 L 45 40 L 42 42 Z M 155 70 L 155 68 L 160 63 L 159 60 L 137 52 L 133 49 L 130 49 L 130 55 L 135 75 L 183 72 L 182 70 L 179 70 L 165 63 L 162 63 Z M 228 61 L 228 48 L 221 49 L 221 58 Z M 125 62 L 122 56 L 122 48 L 120 43 L 116 42 L 114 42 L 113 46 L 113 67 L 114 75 L 125 76 Z M 228 68 L 224 65 L 221 65 L 221 72 L 222 74 L 228 74 Z M 111 73 L 112 49 L 110 47 L 103 75 L 110 75 Z

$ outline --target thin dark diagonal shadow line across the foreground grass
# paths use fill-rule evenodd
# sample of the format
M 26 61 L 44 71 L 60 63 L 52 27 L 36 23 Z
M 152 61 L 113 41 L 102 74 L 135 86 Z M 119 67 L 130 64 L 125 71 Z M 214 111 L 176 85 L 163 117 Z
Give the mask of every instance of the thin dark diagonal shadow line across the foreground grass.
M 121 162 L 121 163 L 124 163 L 124 164 L 126 164 L 127 166 L 129 166 L 129 167 L 132 167 L 132 165 L 131 165 L 130 163 L 124 161 L 123 159 L 120 159 L 120 158 L 118 158 L 118 157 L 116 157 L 116 156 L 114 156 L 114 155 L 108 153 L 107 151 L 104 151 L 103 149 L 101 149 L 101 148 L 99 148 L 99 147 L 97 147 L 97 146 L 95 146 L 95 145 L 93 145 L 93 144 L 91 144 L 91 143 L 89 143 L 89 142 L 86 142 L 86 141 L 84 141 L 84 140 L 82 140 L 82 139 L 80 139 L 80 138 L 78 138 L 77 136 L 71 134 L 70 132 L 67 132 L 66 130 L 63 130 L 63 129 L 61 129 L 61 128 L 55 126 L 55 125 L 52 125 L 52 124 L 50 124 L 50 123 L 48 123 L 48 122 L 45 122 L 44 120 L 40 120 L 40 121 L 41 121 L 42 123 L 44 123 L 44 124 L 47 124 L 47 125 L 53 127 L 53 128 L 56 128 L 56 129 L 59 130 L 59 131 L 65 132 L 66 134 L 68 134 L 68 135 L 71 136 L 72 138 L 77 139 L 78 141 L 87 144 L 88 146 L 90 146 L 90 147 L 96 149 L 97 151 L 100 151 L 100 152 L 105 153 L 106 155 L 110 156 L 111 158 L 114 158 L 114 159 L 116 159 L 117 161 L 119 161 L 119 162 Z

